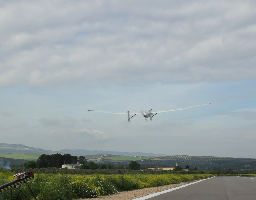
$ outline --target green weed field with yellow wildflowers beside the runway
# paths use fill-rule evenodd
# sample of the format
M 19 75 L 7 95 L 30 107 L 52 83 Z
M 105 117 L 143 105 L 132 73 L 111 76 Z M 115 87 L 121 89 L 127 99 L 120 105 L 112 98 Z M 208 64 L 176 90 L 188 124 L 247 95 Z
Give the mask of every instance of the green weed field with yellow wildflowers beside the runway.
M 176 184 L 205 179 L 211 174 L 124 174 L 124 175 L 63 175 L 35 174 L 29 185 L 38 200 L 71 200 L 80 198 L 96 198 L 97 196 L 116 194 L 120 191 L 142 189 L 155 186 Z M 0 172 L 0 185 L 15 180 L 10 172 Z M 33 199 L 26 184 L 21 190 Z M 17 189 L 12 189 L 14 199 Z M 0 200 L 11 199 L 10 191 L 0 193 Z M 26 199 L 20 196 L 20 199 Z

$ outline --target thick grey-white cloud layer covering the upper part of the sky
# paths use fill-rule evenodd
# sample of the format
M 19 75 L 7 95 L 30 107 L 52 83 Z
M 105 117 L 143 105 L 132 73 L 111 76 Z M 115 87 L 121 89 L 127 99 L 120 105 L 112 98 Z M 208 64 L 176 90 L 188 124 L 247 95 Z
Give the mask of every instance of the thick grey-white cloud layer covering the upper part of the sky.
M 0 87 L 256 76 L 252 2 L 58 3 L 4 4 Z

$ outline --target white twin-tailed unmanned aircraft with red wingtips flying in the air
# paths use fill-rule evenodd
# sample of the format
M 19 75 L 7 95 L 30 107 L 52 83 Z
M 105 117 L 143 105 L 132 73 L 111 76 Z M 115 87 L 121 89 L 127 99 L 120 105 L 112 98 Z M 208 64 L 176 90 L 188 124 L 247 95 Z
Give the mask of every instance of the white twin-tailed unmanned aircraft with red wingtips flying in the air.
M 211 104 L 211 103 L 209 103 Z M 143 113 L 143 111 L 140 112 L 124 112 L 124 113 L 120 113 L 120 112 L 108 112 L 108 111 L 95 111 L 95 110 L 88 110 L 88 111 L 94 111 L 94 112 L 99 112 L 99 113 L 112 113 L 112 114 L 128 114 L 128 122 L 130 122 L 130 119 L 132 117 L 134 117 L 136 114 L 142 114 L 143 117 L 146 118 L 150 118 L 150 121 L 152 121 L 152 117 L 154 117 L 157 113 L 166 113 L 166 112 L 171 112 L 171 111 L 176 111 L 176 110 L 183 110 L 183 109 L 187 109 L 187 108 L 194 108 L 194 107 L 198 107 L 198 106 L 204 106 L 204 105 L 209 105 L 209 104 L 202 104 L 202 105 L 196 105 L 196 106 L 190 106 L 190 107 L 186 107 L 186 108 L 178 108 L 178 109 L 172 109 L 172 110 L 162 110 L 162 111 L 153 111 L 152 109 L 149 111 L 146 111 L 145 113 Z M 132 117 L 130 117 L 130 114 L 132 115 Z M 146 119 L 147 121 L 147 119 Z

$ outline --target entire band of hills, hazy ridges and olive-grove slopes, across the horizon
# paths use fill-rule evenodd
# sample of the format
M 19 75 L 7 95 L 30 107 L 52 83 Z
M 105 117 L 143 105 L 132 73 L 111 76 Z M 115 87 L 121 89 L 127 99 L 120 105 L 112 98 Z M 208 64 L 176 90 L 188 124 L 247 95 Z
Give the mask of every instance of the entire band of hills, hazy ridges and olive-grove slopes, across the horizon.
M 62 149 L 59 151 L 50 151 L 39 148 L 28 147 L 25 145 L 12 145 L 0 143 L 0 167 L 8 168 L 10 165 L 20 165 L 24 162 L 23 159 L 7 158 L 3 154 L 71 154 L 76 156 L 88 155 L 90 159 L 100 160 L 99 163 L 112 164 L 112 165 L 123 165 L 126 160 L 129 160 L 131 156 L 136 156 L 136 161 L 142 166 L 179 166 L 185 167 L 186 165 L 194 168 L 199 167 L 200 170 L 213 170 L 228 169 L 233 170 L 251 170 L 254 171 L 256 167 L 255 158 L 231 158 L 231 157 L 207 157 L 207 156 L 188 156 L 188 155 L 164 155 L 164 154 L 153 154 L 153 153 L 142 153 L 142 152 L 121 152 L 121 151 L 94 151 L 85 149 Z M 1 156 L 2 154 L 2 156 Z M 105 156 L 104 156 L 105 155 Z M 121 155 L 121 156 L 120 156 Z M 129 156 L 124 158 L 123 156 Z M 22 155 L 23 157 L 23 155 Z M 22 158 L 21 157 L 21 158 Z M 89 160 L 88 157 L 88 160 Z M 103 159 L 104 157 L 104 159 Z M 139 159 L 138 159 L 139 158 Z

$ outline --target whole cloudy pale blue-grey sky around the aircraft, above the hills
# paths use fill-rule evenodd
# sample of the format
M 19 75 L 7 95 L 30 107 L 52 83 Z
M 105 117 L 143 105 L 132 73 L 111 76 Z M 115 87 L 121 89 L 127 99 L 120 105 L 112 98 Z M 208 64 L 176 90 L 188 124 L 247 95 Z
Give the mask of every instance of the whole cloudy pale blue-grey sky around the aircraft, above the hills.
M 256 158 L 255 1 L 0 5 L 1 143 Z

